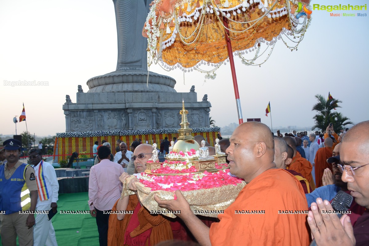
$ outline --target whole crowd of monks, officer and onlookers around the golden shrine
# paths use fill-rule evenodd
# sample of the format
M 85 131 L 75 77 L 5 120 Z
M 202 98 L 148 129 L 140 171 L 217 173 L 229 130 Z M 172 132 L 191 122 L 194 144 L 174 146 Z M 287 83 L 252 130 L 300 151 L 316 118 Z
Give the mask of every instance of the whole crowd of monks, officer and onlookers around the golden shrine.
M 206 143 L 210 154 L 224 152 L 230 174 L 246 182 L 218 218 L 195 215 L 180 190 L 175 200 L 154 196 L 160 207 L 180 211 L 175 219 L 151 214 L 140 202 L 138 179 L 131 175 L 144 172 L 152 145 L 137 140 L 129 151 L 126 143 L 119 142 L 112 158 L 110 144 L 96 143 L 98 163 L 90 170 L 88 204 L 96 217 L 99 244 L 307 246 L 314 240 L 318 246 L 369 245 L 369 121 L 339 136 L 328 125 L 318 136 L 304 132 L 273 136 L 268 126 L 246 122 L 215 148 Z M 13 245 L 16 235 L 28 243 L 23 245 L 32 245 L 33 240 L 39 242 L 34 245 L 53 245 L 48 244 L 55 239 L 51 220 L 14 211 L 56 210 L 57 186 L 46 178 L 55 171 L 48 173 L 38 149 L 29 153 L 34 168 L 20 163 L 20 143 L 10 140 L 4 142 L 7 163 L 0 165 L 0 210 L 7 211 L 0 217 L 3 245 Z M 204 138 L 197 135 L 194 140 L 201 143 Z M 25 185 L 30 194 L 23 193 Z M 42 193 L 44 186 L 47 196 Z M 123 189 L 127 186 L 133 195 Z M 330 204 L 339 191 L 354 197 L 341 218 Z M 27 203 L 11 206 L 15 196 Z

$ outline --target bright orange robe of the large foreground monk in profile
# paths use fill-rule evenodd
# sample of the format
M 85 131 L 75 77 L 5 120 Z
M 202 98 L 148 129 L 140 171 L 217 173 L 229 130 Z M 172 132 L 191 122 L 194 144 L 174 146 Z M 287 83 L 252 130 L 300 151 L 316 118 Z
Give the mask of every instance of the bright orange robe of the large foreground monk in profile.
M 303 188 L 292 174 L 277 168 L 267 170 L 239 192 L 218 216 L 220 222 L 211 224 L 211 245 L 307 246 L 307 214 L 279 214 L 307 209 Z M 265 214 L 242 214 L 254 210 Z

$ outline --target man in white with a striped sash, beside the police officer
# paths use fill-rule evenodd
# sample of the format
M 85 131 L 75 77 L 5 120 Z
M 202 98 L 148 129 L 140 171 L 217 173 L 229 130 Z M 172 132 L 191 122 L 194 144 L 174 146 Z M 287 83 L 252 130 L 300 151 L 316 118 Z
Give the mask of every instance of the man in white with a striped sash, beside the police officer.
M 31 163 L 34 165 L 38 187 L 36 211 L 56 211 L 58 204 L 59 184 L 54 167 L 42 160 L 40 149 L 31 149 L 28 152 Z M 55 230 L 47 214 L 36 214 L 33 229 L 34 245 L 57 246 Z

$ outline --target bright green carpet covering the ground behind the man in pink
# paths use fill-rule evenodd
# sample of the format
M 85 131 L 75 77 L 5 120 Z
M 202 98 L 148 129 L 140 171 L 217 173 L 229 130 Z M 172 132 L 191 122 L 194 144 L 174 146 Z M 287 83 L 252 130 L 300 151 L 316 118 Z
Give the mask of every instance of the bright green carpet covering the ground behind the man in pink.
M 62 210 L 89 210 L 88 200 L 88 192 L 59 195 L 58 214 L 52 218 L 59 246 L 99 245 L 99 233 L 94 217 L 90 214 L 60 214 Z

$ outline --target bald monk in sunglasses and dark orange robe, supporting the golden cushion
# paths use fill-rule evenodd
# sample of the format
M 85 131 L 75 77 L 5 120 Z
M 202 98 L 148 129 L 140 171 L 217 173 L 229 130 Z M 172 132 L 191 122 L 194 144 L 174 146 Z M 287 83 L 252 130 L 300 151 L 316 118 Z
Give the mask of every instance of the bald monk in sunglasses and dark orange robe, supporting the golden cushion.
M 144 172 L 146 169 L 145 162 L 152 156 L 152 146 L 148 144 L 138 145 L 133 154 L 136 173 Z M 128 177 L 130 175 L 124 172 L 120 177 L 120 181 L 124 182 Z M 137 191 L 134 185 L 136 181 L 138 179 L 131 180 L 131 190 Z M 155 245 L 158 242 L 173 239 L 170 222 L 162 215 L 151 215 L 145 207 L 141 206 L 137 193 L 136 195 L 121 197 L 114 204 L 112 210 L 133 210 L 134 213 L 111 214 L 108 230 L 109 246 Z

